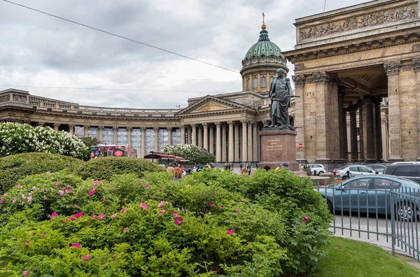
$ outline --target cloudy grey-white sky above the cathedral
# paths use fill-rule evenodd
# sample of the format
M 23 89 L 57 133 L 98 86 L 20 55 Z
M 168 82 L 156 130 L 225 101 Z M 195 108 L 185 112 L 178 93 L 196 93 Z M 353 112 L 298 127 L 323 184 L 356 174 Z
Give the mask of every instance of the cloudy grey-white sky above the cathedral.
M 237 72 L 0 0 L 0 90 L 121 108 L 184 108 L 191 97 L 240 91 L 241 59 L 258 41 L 261 13 L 269 38 L 286 51 L 295 45 L 295 18 L 324 6 L 324 0 L 12 1 Z M 325 11 L 363 2 L 327 0 Z

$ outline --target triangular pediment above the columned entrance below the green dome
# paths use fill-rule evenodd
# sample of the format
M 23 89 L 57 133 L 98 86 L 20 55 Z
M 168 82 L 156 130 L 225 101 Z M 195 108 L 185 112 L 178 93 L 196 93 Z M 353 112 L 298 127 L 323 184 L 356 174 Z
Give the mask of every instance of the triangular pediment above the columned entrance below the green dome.
M 229 101 L 226 99 L 221 99 L 218 97 L 212 97 L 210 95 L 207 95 L 206 97 L 203 97 L 200 101 L 195 102 L 195 104 L 179 111 L 179 113 L 177 113 L 176 115 L 218 112 L 238 108 L 246 108 L 246 106 L 239 103 L 235 103 L 234 101 Z

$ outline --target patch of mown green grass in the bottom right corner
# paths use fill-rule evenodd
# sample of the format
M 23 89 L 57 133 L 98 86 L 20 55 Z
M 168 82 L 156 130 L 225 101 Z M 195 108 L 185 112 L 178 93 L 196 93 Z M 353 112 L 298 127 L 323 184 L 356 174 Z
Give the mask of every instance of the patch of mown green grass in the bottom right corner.
M 407 261 L 414 260 L 402 256 L 393 257 L 392 253 L 370 243 L 332 236 L 331 248 L 327 257 L 319 260 L 320 270 L 316 276 L 420 276 L 419 269 Z

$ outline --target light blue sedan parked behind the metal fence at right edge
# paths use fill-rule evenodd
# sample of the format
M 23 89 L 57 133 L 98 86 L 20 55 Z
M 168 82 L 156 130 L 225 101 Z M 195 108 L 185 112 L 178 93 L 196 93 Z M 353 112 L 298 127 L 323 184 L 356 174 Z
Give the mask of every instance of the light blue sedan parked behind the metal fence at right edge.
M 391 215 L 393 208 L 400 220 L 409 221 L 420 210 L 420 184 L 398 176 L 359 176 L 318 191 L 326 198 L 331 213 L 360 211 Z

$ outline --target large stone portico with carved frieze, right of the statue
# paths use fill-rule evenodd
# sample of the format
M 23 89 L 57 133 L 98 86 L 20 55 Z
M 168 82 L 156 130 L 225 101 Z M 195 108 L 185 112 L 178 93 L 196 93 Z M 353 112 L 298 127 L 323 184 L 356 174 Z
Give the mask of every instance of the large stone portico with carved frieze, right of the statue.
M 379 0 L 296 20 L 297 141 L 309 162 L 419 155 L 418 0 Z M 385 143 L 384 143 L 385 142 Z

